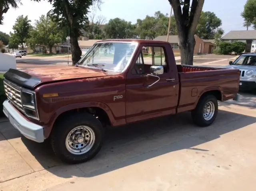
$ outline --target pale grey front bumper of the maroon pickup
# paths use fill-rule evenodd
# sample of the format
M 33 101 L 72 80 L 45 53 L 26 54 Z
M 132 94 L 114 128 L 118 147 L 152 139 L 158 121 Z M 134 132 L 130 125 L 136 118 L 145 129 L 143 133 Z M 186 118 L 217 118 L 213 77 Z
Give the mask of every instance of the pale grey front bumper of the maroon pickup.
M 22 135 L 38 143 L 44 142 L 44 130 L 42 126 L 28 121 L 10 104 L 8 99 L 4 101 L 3 107 L 3 112 L 8 117 L 10 123 Z

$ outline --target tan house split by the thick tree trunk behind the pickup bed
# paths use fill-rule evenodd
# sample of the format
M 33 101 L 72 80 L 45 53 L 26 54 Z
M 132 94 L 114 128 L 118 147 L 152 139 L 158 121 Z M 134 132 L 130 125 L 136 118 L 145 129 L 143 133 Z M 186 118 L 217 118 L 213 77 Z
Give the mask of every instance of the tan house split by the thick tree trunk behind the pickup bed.
M 204 40 L 200 38 L 199 36 L 195 35 L 195 41 L 196 45 L 194 48 L 194 54 L 212 54 L 213 48 L 214 48 L 214 40 Z M 157 41 L 166 41 L 167 36 L 158 36 L 154 38 L 154 40 Z M 172 46 L 172 50 L 175 53 L 180 53 L 179 48 L 179 38 L 178 35 L 170 35 L 168 38 L 168 42 Z

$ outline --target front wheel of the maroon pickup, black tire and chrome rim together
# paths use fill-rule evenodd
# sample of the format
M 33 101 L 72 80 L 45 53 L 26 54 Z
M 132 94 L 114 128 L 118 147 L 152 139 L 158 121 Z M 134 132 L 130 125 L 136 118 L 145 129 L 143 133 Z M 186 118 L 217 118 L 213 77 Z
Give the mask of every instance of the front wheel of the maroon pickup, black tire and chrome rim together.
M 90 113 L 78 113 L 62 119 L 50 137 L 56 156 L 69 164 L 92 159 L 100 151 L 103 139 L 103 126 Z

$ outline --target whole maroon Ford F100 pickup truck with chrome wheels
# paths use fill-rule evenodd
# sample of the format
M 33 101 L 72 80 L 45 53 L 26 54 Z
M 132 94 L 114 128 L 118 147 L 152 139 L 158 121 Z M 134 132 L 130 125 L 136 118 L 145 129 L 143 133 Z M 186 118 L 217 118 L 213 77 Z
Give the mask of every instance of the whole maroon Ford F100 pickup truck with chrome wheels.
M 240 71 L 176 65 L 167 42 L 103 40 L 76 66 L 10 69 L 4 77 L 10 123 L 28 139 L 48 139 L 64 162 L 80 163 L 100 151 L 107 125 L 183 111 L 200 127 L 212 124 L 217 100 L 236 97 Z

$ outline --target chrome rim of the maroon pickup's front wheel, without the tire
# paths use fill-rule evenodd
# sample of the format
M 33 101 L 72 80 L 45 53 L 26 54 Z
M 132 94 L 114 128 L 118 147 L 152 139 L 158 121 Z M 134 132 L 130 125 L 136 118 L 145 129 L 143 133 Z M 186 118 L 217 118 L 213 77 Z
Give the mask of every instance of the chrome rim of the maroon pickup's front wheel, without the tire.
M 66 149 L 73 155 L 82 155 L 92 149 L 95 133 L 91 127 L 81 125 L 72 129 L 66 137 Z

